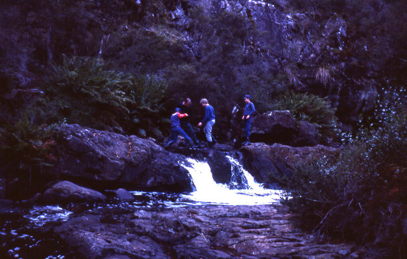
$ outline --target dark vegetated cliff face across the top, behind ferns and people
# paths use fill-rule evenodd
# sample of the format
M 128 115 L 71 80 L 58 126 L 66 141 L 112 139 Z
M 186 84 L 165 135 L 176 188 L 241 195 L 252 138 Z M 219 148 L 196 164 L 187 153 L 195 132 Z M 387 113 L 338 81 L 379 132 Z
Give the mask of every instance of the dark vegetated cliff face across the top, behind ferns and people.
M 247 92 L 258 102 L 287 89 L 327 96 L 340 121 L 355 124 L 379 87 L 405 82 L 405 4 L 336 2 L 6 1 L 1 92 L 41 88 L 63 54 L 93 56 L 107 69 L 158 75 L 168 108 L 208 98 L 220 135 Z

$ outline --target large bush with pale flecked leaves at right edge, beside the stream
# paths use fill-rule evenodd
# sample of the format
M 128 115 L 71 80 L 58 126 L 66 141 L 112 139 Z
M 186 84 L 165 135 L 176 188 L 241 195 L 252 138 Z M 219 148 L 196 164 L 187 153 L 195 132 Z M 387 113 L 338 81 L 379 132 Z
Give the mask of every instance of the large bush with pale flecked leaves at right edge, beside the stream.
M 283 180 L 290 208 L 319 236 L 375 241 L 387 247 L 389 258 L 406 252 L 405 93 L 387 92 L 376 109 L 377 124 L 352 138 L 339 156 L 306 161 Z

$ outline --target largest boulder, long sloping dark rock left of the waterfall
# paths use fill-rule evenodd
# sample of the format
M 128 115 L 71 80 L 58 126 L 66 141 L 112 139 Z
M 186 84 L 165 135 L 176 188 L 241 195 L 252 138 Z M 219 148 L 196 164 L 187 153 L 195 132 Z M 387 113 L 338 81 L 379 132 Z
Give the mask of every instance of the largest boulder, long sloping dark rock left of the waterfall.
M 185 157 L 149 139 L 99 131 L 79 125 L 56 130 L 56 165 L 60 179 L 95 188 L 146 191 L 192 191 Z

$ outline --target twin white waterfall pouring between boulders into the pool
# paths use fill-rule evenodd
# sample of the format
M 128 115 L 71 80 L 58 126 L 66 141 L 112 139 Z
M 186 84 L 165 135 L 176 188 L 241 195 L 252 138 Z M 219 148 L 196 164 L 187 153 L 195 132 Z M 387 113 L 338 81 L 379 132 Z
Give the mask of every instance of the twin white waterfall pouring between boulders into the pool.
M 239 162 L 229 156 L 232 173 L 241 173 L 239 177 L 244 177 L 247 182 L 245 189 L 229 189 L 226 184 L 216 183 L 212 177 L 211 168 L 207 162 L 200 162 L 195 159 L 188 159 L 191 166 L 184 167 L 191 174 L 196 191 L 189 195 L 183 195 L 197 203 L 225 204 L 225 205 L 261 205 L 278 203 L 281 198 L 281 191 L 264 189 L 257 183 L 253 176 L 248 173 Z M 237 178 L 232 175 L 232 179 Z M 232 182 L 232 184 L 234 184 Z

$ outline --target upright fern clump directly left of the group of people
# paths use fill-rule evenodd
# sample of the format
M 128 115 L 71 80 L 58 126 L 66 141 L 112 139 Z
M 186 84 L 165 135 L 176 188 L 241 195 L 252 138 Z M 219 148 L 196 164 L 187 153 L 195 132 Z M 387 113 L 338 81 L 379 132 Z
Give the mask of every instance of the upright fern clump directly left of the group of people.
M 166 89 L 167 84 L 156 76 L 132 78 L 131 85 L 126 90 L 131 98 L 130 131 L 136 131 L 137 135 L 142 137 L 163 137 L 162 131 L 169 122 L 163 118 Z

